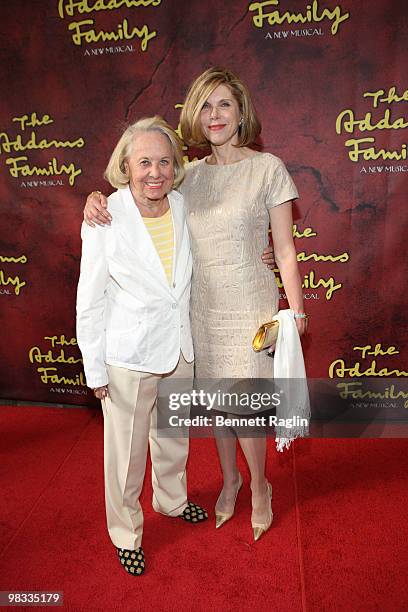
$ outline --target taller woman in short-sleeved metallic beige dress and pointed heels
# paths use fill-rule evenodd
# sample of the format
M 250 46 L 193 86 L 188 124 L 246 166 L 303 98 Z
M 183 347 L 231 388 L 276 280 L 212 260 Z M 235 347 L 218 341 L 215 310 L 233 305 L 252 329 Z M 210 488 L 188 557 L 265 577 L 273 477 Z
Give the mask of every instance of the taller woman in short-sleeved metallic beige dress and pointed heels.
M 261 126 L 248 89 L 231 71 L 210 68 L 191 85 L 181 114 L 185 142 L 210 147 L 211 155 L 186 167 L 180 189 L 185 195 L 193 255 L 191 320 L 196 376 L 272 378 L 273 359 L 255 353 L 251 340 L 260 324 L 278 310 L 274 276 L 259 258 L 272 229 L 276 263 L 292 311 L 292 338 L 300 343 L 307 327 L 292 237 L 292 200 L 296 187 L 283 162 L 249 147 Z M 88 198 L 88 223 L 109 222 L 100 196 Z M 297 331 L 296 331 L 297 330 Z M 299 356 L 297 356 L 299 357 Z M 297 359 L 297 362 L 303 359 Z M 218 410 L 231 410 L 218 406 Z M 251 473 L 254 539 L 272 523 L 272 487 L 265 477 L 266 440 L 217 435 L 223 488 L 215 513 L 221 527 L 234 514 L 242 485 L 236 465 L 238 438 Z

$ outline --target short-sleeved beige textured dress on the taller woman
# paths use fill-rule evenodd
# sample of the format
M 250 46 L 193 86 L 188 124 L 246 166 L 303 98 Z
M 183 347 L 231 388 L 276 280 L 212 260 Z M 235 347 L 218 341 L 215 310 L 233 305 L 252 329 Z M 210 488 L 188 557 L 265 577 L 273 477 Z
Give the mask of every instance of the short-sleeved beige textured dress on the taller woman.
M 191 323 L 198 378 L 271 378 L 273 359 L 252 338 L 278 310 L 274 274 L 261 261 L 268 209 L 298 197 L 282 161 L 254 153 L 240 162 L 186 168 L 193 255 Z

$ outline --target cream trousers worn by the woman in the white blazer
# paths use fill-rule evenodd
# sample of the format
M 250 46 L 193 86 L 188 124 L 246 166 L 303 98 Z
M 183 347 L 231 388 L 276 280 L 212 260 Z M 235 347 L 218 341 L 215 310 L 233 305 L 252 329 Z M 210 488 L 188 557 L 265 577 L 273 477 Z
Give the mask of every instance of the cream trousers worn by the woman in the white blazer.
M 191 390 L 193 363 L 187 363 L 180 353 L 177 367 L 164 375 L 109 365 L 107 369 L 109 397 L 102 401 L 106 519 L 113 544 L 134 550 L 142 543 L 139 496 L 148 443 L 154 510 L 178 516 L 187 506 L 189 439 L 158 437 L 156 425 L 161 408 L 157 397 L 163 394 L 166 382 L 171 382 L 174 390 L 174 379 L 180 379 L 180 392 Z

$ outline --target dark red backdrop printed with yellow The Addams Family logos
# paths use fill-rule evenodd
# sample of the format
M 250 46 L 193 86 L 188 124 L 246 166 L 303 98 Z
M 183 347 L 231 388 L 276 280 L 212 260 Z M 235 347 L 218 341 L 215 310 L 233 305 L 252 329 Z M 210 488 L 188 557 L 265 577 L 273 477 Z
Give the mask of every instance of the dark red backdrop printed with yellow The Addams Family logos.
M 406 376 L 405 0 L 9 0 L 0 17 L 0 397 L 92 401 L 75 340 L 85 196 L 109 192 L 123 125 L 177 127 L 215 64 L 249 85 L 259 144 L 301 194 L 309 375 Z

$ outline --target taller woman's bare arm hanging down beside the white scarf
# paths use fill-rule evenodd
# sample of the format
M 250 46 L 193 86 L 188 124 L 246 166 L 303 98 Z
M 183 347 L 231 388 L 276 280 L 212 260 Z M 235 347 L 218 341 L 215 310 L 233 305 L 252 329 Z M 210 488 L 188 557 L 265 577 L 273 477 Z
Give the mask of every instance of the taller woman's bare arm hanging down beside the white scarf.
M 304 313 L 303 291 L 300 280 L 296 250 L 293 242 L 292 202 L 284 202 L 269 209 L 273 248 L 276 265 L 282 278 L 289 307 L 298 314 Z M 296 326 L 302 335 L 307 328 L 306 318 L 297 318 Z

